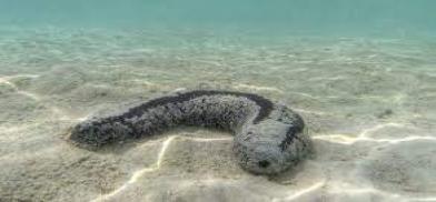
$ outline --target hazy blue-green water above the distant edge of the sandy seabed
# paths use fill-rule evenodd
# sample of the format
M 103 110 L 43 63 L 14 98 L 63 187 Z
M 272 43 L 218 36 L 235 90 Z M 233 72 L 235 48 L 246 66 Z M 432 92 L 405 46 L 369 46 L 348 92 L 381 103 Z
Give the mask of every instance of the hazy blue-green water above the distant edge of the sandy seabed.
M 0 23 L 62 27 L 220 27 L 310 33 L 436 32 L 433 0 L 1 0 Z

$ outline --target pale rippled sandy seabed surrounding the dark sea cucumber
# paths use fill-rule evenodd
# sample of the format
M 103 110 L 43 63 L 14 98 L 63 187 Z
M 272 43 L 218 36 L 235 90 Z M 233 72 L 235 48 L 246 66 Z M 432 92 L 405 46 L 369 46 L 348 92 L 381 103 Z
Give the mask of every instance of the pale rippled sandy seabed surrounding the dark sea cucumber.
M 436 201 L 434 39 L 0 29 L 0 201 Z M 316 153 L 242 171 L 232 138 L 177 129 L 91 152 L 68 129 L 177 89 L 254 92 Z

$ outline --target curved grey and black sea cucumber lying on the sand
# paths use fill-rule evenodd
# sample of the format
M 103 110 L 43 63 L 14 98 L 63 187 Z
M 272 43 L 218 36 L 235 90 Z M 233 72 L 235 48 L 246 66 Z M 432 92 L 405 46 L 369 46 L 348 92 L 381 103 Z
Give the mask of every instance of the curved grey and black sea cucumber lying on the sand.
M 257 94 L 189 91 L 161 97 L 116 114 L 76 125 L 70 140 L 98 149 L 160 133 L 177 125 L 198 125 L 235 134 L 239 164 L 257 174 L 275 174 L 310 152 L 303 119 L 288 108 Z

